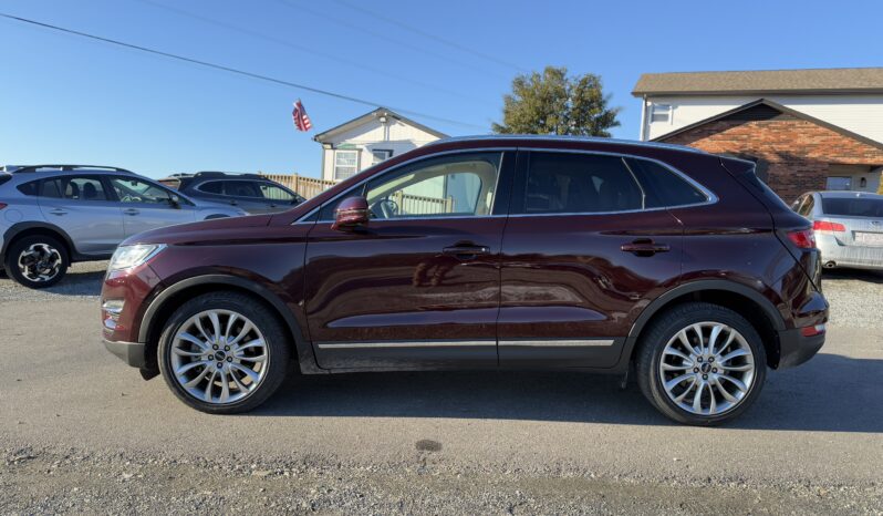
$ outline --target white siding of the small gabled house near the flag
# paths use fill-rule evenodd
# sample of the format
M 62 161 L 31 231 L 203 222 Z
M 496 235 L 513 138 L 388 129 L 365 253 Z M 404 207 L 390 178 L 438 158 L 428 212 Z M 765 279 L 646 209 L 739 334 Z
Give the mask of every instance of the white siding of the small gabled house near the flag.
M 435 142 L 437 136 L 406 124 L 392 116 L 386 124 L 372 120 L 365 124 L 335 135 L 330 140 L 335 148 L 353 148 L 360 152 L 359 167 L 365 169 L 374 163 L 373 149 L 393 151 L 393 156 Z M 323 149 L 323 179 L 334 179 L 334 149 Z

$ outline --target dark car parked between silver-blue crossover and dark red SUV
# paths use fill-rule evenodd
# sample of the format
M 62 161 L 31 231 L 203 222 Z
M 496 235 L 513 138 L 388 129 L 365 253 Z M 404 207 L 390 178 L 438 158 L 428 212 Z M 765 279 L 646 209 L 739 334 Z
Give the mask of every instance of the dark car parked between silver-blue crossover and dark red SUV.
M 197 172 L 175 174 L 159 182 L 191 198 L 229 204 L 249 214 L 285 211 L 304 200 L 297 193 L 258 174 Z

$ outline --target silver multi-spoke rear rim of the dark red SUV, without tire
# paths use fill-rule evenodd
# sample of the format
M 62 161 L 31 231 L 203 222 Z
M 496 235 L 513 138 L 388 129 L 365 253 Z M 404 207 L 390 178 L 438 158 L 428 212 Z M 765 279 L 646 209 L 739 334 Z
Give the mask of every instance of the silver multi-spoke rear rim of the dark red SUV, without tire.
M 736 329 L 720 322 L 697 322 L 665 345 L 659 378 L 678 407 L 718 415 L 748 395 L 755 380 L 755 355 Z

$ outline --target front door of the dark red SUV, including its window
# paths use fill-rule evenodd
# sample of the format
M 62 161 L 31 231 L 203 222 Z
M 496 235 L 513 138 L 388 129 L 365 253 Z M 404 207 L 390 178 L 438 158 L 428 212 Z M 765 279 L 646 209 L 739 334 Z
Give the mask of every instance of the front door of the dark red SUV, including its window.
M 307 317 L 320 367 L 496 367 L 499 254 L 513 154 L 474 152 L 391 169 L 364 195 L 362 230 L 323 207 L 307 246 Z

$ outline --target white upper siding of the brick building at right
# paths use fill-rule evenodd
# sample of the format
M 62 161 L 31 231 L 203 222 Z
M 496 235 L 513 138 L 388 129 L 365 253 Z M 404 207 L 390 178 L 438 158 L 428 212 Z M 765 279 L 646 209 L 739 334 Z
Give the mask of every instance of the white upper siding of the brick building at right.
M 758 96 L 653 96 L 648 104 L 671 105 L 668 122 L 651 122 L 648 140 L 754 102 Z M 883 142 L 883 95 L 765 95 L 763 99 L 806 113 L 862 136 Z M 652 109 L 647 106 L 647 113 Z

